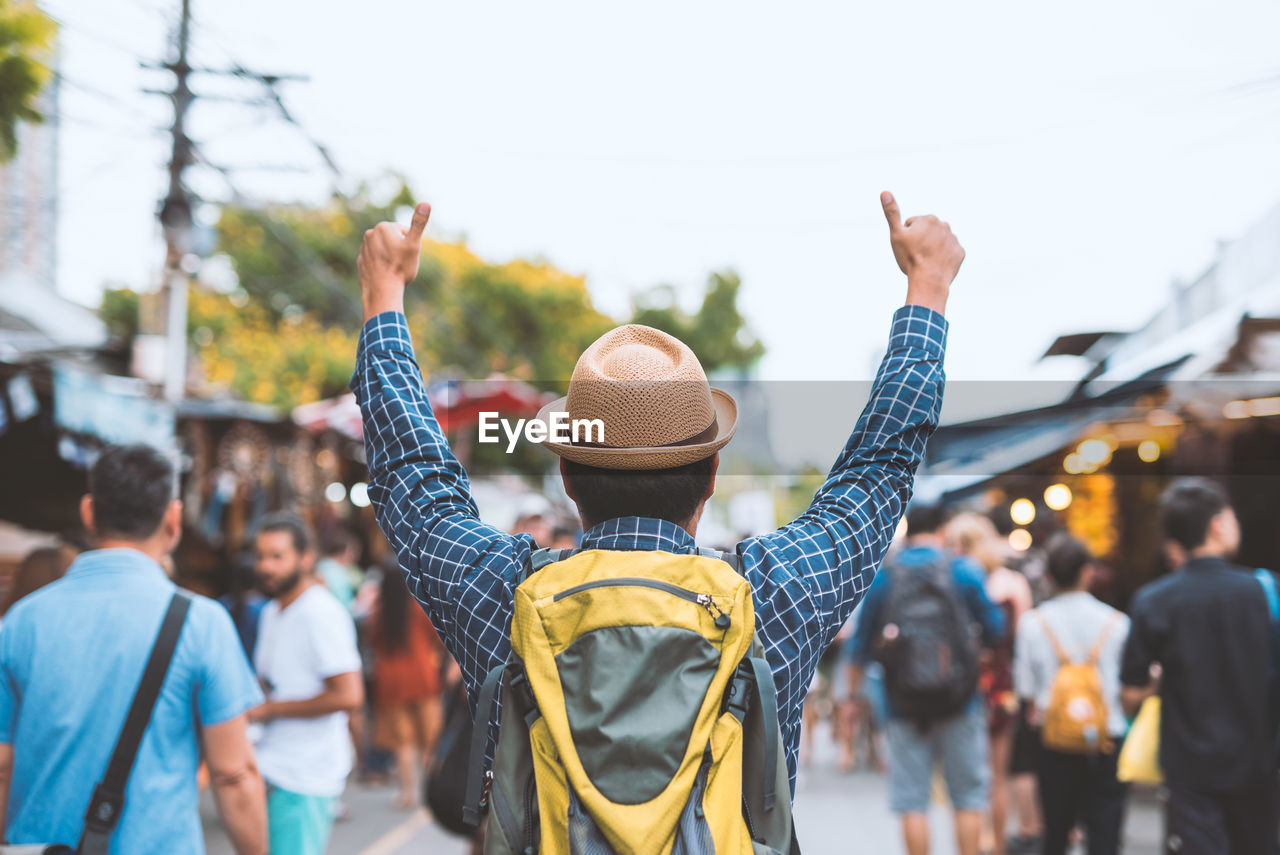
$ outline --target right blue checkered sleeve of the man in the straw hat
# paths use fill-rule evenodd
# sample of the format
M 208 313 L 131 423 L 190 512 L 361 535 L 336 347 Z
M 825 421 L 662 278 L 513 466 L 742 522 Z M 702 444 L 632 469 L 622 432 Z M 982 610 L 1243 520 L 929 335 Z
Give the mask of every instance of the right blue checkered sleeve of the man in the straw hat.
M 739 545 L 778 689 L 792 787 L 800 709 L 818 658 L 876 577 L 937 427 L 946 335 L 947 321 L 931 308 L 893 315 L 867 407 L 809 509 Z

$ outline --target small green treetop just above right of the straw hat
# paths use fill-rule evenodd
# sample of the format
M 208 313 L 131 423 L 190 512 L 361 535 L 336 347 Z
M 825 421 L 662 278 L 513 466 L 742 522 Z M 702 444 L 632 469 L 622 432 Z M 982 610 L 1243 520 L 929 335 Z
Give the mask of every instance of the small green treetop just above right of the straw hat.
M 694 349 L 703 370 L 746 370 L 764 356 L 764 343 L 748 328 L 737 308 L 742 279 L 732 270 L 707 279 L 703 305 L 692 315 L 676 305 L 675 291 L 659 285 L 632 302 L 631 323 L 671 333 Z

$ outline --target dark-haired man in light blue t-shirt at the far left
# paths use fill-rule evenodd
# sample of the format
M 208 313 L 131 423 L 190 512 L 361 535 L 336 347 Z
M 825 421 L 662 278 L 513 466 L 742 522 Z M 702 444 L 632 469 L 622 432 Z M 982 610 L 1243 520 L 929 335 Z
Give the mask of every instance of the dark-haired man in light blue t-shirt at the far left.
M 13 843 L 74 846 L 174 593 L 161 568 L 182 532 L 173 466 L 110 448 L 81 517 L 100 548 L 22 599 L 0 631 L 0 826 Z M 262 701 L 227 611 L 192 595 L 138 747 L 111 855 L 205 851 L 201 753 L 239 855 L 266 852 L 262 778 L 246 710 Z

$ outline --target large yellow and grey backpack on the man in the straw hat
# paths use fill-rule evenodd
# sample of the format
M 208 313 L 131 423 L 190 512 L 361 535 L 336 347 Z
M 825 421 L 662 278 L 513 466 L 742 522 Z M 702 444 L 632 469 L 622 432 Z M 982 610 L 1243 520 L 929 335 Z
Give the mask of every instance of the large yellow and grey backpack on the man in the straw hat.
M 486 855 L 797 852 L 773 675 L 735 554 L 543 549 L 476 705 Z M 480 774 L 502 692 L 493 769 Z

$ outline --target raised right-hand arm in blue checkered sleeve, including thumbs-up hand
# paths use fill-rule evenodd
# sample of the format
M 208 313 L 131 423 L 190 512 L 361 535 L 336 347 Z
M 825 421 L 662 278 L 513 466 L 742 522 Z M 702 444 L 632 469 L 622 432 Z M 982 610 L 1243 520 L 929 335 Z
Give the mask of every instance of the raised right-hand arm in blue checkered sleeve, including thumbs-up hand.
M 892 195 L 881 204 L 906 305 L 893 315 L 867 407 L 809 509 L 740 548 L 758 614 L 776 616 L 792 643 L 810 646 L 801 659 L 822 651 L 870 585 L 942 407 L 942 312 L 964 250 L 936 216 L 902 223 Z

